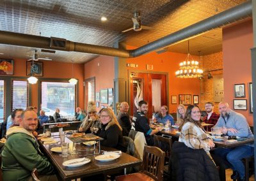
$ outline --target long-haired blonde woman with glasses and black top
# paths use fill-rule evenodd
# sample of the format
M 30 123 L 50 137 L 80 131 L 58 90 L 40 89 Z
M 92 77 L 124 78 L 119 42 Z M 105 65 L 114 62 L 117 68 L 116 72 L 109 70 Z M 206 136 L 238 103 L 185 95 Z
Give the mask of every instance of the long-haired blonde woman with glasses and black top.
M 115 113 L 109 108 L 104 108 L 100 113 L 100 122 L 101 129 L 96 133 L 100 138 L 104 138 L 100 144 L 126 152 L 123 146 L 122 127 L 118 123 Z

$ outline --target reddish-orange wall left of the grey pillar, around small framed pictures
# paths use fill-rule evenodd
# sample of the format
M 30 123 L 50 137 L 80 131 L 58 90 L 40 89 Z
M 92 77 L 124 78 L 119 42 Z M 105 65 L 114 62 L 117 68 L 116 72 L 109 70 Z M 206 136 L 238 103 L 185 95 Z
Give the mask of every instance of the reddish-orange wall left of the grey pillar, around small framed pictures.
M 84 79 L 95 76 L 95 92 L 100 92 L 100 89 L 114 87 L 114 63 L 114 57 L 99 56 L 84 64 Z M 104 105 L 108 106 L 107 104 Z M 99 110 L 100 108 L 97 108 L 97 111 Z

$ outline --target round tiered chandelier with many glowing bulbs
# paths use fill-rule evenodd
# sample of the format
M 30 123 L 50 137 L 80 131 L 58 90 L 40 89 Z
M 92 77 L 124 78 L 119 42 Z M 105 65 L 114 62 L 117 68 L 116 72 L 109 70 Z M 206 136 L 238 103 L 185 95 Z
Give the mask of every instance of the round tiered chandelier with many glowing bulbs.
M 184 62 L 180 62 L 179 66 L 179 70 L 175 72 L 178 78 L 200 78 L 203 76 L 203 71 L 199 68 L 198 61 L 194 61 L 193 57 L 189 54 L 189 41 L 188 55 Z

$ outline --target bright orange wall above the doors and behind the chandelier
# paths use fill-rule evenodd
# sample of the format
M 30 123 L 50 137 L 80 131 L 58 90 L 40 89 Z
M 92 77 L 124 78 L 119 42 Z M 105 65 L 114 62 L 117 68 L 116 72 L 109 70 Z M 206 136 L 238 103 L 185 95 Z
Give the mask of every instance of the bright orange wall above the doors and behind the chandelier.
M 179 94 L 191 94 L 191 103 L 193 103 L 193 95 L 200 94 L 200 80 L 198 78 L 176 78 L 175 71 L 179 69 L 179 63 L 185 61 L 186 54 L 179 54 L 173 52 L 164 52 L 157 54 L 152 52 L 140 57 L 127 59 L 127 63 L 138 64 L 138 68 L 128 68 L 130 70 L 147 71 L 146 65 L 152 64 L 154 69 L 150 72 L 166 72 L 168 73 L 169 81 L 169 111 L 170 113 L 176 112 L 177 105 L 172 105 L 171 96 L 177 96 L 179 101 Z M 198 61 L 197 56 L 193 56 L 194 60 Z M 200 100 L 199 100 L 200 101 Z

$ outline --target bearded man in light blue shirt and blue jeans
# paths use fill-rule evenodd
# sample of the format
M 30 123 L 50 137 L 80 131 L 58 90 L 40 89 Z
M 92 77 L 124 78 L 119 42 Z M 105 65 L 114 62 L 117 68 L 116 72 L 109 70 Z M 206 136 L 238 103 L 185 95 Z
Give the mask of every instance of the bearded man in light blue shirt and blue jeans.
M 215 127 L 222 127 L 221 133 L 227 136 L 253 138 L 248 122 L 241 113 L 230 110 L 228 103 L 225 102 L 219 104 L 219 110 L 221 117 Z M 234 148 L 216 148 L 214 154 L 228 161 L 229 166 L 234 171 L 231 179 L 245 180 L 244 164 L 241 159 L 253 156 L 253 144 Z

